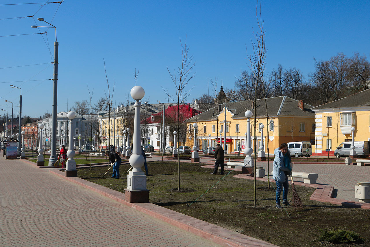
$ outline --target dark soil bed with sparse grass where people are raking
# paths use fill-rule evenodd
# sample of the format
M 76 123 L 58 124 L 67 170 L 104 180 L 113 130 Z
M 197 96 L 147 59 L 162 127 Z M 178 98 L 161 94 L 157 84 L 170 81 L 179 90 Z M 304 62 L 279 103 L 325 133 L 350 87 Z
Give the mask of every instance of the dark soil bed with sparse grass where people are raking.
M 178 191 L 178 164 L 173 161 L 148 162 L 147 188 L 149 202 L 180 213 L 268 241 L 278 246 L 332 246 L 316 241 L 320 228 L 341 229 L 360 234 L 362 244 L 337 246 L 370 246 L 370 211 L 344 208 L 339 205 L 310 201 L 313 188 L 296 187 L 303 201 L 303 210 L 275 208 L 275 184 L 257 181 L 256 207 L 253 207 L 252 180 L 234 178 L 237 172 L 211 175 L 211 169 L 201 164 L 180 164 L 180 191 Z M 78 169 L 78 177 L 124 192 L 127 187 L 128 164 L 120 167 L 119 180 L 102 175 L 108 167 Z M 144 167 L 142 167 L 144 170 Z M 288 198 L 291 198 L 289 190 Z

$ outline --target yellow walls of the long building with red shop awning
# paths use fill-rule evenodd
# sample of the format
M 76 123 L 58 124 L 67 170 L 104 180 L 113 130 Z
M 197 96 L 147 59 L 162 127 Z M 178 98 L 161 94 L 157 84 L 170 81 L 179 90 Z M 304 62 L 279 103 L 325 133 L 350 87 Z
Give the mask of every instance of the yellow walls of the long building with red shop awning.
M 232 119 L 232 113 L 230 111 L 226 111 L 226 122 L 229 125 L 229 132 L 226 132 L 226 139 L 232 139 L 232 142 L 226 142 L 228 144 L 228 153 L 237 152 L 236 140 L 245 140 L 245 132 L 247 130 L 247 119 Z M 225 111 L 223 110 L 219 113 L 218 121 L 197 121 L 198 124 L 198 134 L 197 138 L 201 139 L 199 143 L 199 149 L 204 149 L 208 147 L 208 135 L 211 134 L 211 143 L 212 140 L 215 141 L 217 136 L 219 138 L 220 134 L 218 130 L 221 128 L 220 126 L 223 125 L 223 121 L 225 120 Z M 270 131 L 268 126 L 268 122 L 273 120 L 274 128 Z M 220 123 L 222 122 L 222 123 Z M 194 122 L 188 123 L 187 129 L 189 130 L 189 124 L 193 124 Z M 259 118 L 257 119 L 256 129 L 258 129 L 259 123 L 263 123 L 265 128 L 263 129 L 263 143 L 265 146 L 265 152 L 267 153 L 267 145 L 269 145 L 269 153 L 273 154 L 275 148 L 279 147 L 283 142 L 291 142 L 292 136 L 294 141 L 310 141 L 310 139 L 314 139 L 314 132 L 312 132 L 312 124 L 314 123 L 314 117 L 295 117 L 295 116 L 279 116 L 275 118 L 269 118 L 268 121 L 266 118 Z M 300 132 L 300 123 L 305 123 L 305 131 Z M 236 124 L 239 124 L 239 132 L 236 132 Z M 252 148 L 254 149 L 253 143 L 253 136 L 254 136 L 254 117 L 250 119 L 250 132 L 252 137 Z M 206 132 L 203 132 L 203 126 L 206 126 Z M 215 125 L 215 132 L 212 132 L 212 125 Z M 218 129 L 217 129 L 218 127 Z M 293 132 L 291 132 L 293 130 Z M 267 131 L 269 131 L 269 141 L 267 142 Z M 311 134 L 311 138 L 310 138 Z M 273 138 L 272 138 L 273 137 Z M 222 132 L 222 139 L 224 138 L 224 133 Z M 256 130 L 256 139 L 260 140 L 261 132 Z M 206 139 L 207 146 L 204 147 L 203 139 Z M 241 141 L 241 147 L 243 142 Z M 192 147 L 194 145 L 193 138 L 191 141 L 189 139 L 186 140 L 186 145 Z M 223 145 L 222 145 L 223 146 Z M 258 149 L 258 142 L 256 143 Z M 243 149 L 242 149 L 243 152 Z

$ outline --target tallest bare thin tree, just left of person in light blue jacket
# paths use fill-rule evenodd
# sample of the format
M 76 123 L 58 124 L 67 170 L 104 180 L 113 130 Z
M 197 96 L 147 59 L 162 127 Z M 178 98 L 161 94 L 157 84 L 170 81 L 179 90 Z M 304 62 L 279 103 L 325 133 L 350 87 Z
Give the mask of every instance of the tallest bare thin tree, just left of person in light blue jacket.
M 257 17 L 257 25 L 258 30 L 256 32 L 253 31 L 255 42 L 252 42 L 253 52 L 248 54 L 247 56 L 249 59 L 249 67 L 252 72 L 253 76 L 253 91 L 254 91 L 254 105 L 256 106 L 256 100 L 259 93 L 259 86 L 263 86 L 260 84 L 263 84 L 264 78 L 263 73 L 265 71 L 265 59 L 266 59 L 266 43 L 265 43 L 265 37 L 266 37 L 266 31 L 263 29 L 263 21 L 261 18 L 261 10 L 259 11 L 258 15 L 258 3 L 256 6 L 256 17 Z M 253 131 L 254 136 L 256 136 L 256 107 L 254 109 L 254 124 L 253 124 Z M 254 152 L 255 152 L 255 164 L 257 163 L 257 154 L 256 154 L 256 139 L 254 142 Z M 256 165 L 254 167 L 254 174 L 256 174 Z M 256 207 L 256 175 L 254 175 L 254 200 L 253 200 L 253 207 Z

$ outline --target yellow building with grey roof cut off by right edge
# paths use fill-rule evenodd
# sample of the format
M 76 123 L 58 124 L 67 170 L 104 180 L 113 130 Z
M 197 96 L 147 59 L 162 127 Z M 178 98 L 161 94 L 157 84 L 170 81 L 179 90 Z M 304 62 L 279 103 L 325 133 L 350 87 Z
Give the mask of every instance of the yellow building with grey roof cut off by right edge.
M 370 89 L 316 106 L 315 152 L 334 154 L 344 141 L 370 141 Z

